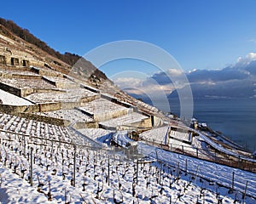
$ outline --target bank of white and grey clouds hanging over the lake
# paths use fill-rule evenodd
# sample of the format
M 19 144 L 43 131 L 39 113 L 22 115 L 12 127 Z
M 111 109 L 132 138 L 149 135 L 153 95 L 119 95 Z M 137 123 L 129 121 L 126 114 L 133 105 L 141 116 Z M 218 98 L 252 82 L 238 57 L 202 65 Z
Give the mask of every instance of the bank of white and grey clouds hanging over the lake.
M 219 70 L 193 70 L 185 73 L 190 85 L 203 93 L 202 90 L 207 89 L 212 94 L 227 94 L 229 89 L 237 90 L 241 84 L 245 84 L 248 88 L 251 83 L 255 82 L 256 76 L 256 54 L 249 53 L 245 57 L 237 59 L 235 65 L 230 65 Z M 134 77 L 119 77 L 113 80 L 119 88 L 125 90 L 128 94 L 147 95 L 150 97 L 163 97 L 166 94 L 172 93 L 177 88 L 183 88 L 188 85 L 183 81 L 184 73 L 181 70 L 170 69 L 166 72 L 157 72 L 153 76 L 147 78 Z M 172 83 L 174 82 L 174 84 Z M 239 86 L 238 86 L 239 85 Z M 225 87 L 225 89 L 224 89 Z M 212 89 L 211 89 L 212 88 Z M 218 90 L 217 89 L 223 89 Z M 242 86 L 244 88 L 244 86 Z M 216 90 L 215 90 L 216 89 Z M 233 90 L 232 89 L 232 90 Z M 225 90 L 225 91 L 224 91 Z M 248 89 L 250 90 L 250 89 Z M 198 94 L 200 94 L 198 93 Z M 204 93 L 206 94 L 207 91 Z M 230 92 L 231 93 L 231 92 Z M 233 93 L 233 91 L 232 91 Z M 235 93 L 235 92 L 234 92 Z M 244 91 L 244 93 L 247 93 Z

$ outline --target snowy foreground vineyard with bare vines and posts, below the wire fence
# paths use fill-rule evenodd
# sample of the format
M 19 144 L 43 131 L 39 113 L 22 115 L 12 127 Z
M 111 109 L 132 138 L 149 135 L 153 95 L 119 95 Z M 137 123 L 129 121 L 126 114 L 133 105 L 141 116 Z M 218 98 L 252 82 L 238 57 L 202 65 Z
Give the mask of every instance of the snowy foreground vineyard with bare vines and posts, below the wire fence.
M 47 200 L 51 200 L 49 203 L 242 203 L 245 185 L 242 182 L 247 179 L 250 183 L 245 203 L 255 203 L 248 196 L 255 194 L 253 173 L 209 166 L 219 173 L 214 176 L 223 183 L 231 184 L 230 173 L 236 171 L 234 190 L 229 193 L 228 188 L 198 177 L 214 178 L 205 161 L 187 159 L 188 171 L 184 173 L 183 157 L 144 144 L 139 144 L 140 152 L 149 156 L 157 152 L 158 158 L 165 162 L 129 161 L 119 149 L 107 151 L 90 146 L 74 149 L 59 143 L 24 146 L 17 134 L 9 137 L 1 134 L 2 203 L 46 203 Z M 28 184 L 31 163 L 32 187 Z M 238 191 L 240 184 L 241 191 Z

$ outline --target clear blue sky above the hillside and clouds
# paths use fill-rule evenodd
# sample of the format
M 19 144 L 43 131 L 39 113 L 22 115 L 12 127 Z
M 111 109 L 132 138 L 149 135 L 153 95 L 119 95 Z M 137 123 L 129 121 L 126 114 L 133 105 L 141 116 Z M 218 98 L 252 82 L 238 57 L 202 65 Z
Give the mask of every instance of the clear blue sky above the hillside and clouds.
M 0 16 L 61 53 L 140 40 L 166 49 L 189 71 L 224 68 L 255 53 L 255 9 L 254 0 L 38 0 L 3 1 Z

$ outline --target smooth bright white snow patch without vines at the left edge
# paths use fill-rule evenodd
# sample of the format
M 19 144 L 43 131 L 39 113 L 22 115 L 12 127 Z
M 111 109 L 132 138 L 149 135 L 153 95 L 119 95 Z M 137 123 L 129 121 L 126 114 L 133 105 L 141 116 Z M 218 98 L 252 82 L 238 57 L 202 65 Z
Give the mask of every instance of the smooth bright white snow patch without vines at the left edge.
M 0 89 L 0 99 L 2 99 L 3 105 L 32 105 L 28 100 L 22 99 L 14 94 L 9 94 L 2 89 Z

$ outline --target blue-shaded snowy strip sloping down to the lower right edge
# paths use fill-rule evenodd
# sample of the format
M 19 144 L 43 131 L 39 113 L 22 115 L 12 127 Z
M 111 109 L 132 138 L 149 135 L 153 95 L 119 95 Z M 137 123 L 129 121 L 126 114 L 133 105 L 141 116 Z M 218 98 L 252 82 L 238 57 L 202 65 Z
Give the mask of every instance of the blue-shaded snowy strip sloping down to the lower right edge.
M 139 143 L 138 150 L 143 155 L 158 158 L 161 161 L 177 166 L 189 173 L 197 173 L 202 178 L 207 178 L 214 183 L 224 184 L 230 187 L 232 184 L 232 174 L 235 173 L 235 189 L 244 191 L 247 184 L 247 193 L 256 198 L 256 173 L 250 173 L 241 169 L 226 167 L 214 162 L 203 161 L 189 156 L 183 156 L 166 150 L 160 150 L 153 146 Z M 256 203 L 256 202 L 255 202 Z

